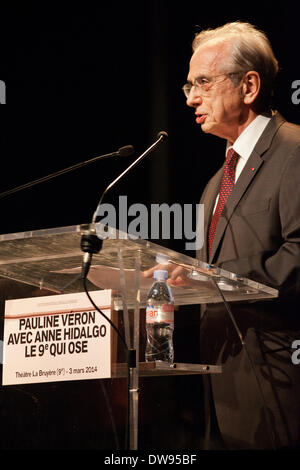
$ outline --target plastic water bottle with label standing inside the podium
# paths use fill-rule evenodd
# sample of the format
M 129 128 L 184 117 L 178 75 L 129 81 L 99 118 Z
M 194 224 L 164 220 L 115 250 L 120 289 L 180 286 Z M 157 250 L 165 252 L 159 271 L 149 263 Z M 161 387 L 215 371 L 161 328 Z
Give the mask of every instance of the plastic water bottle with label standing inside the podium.
M 174 299 L 167 278 L 168 271 L 154 271 L 146 308 L 146 362 L 174 360 Z

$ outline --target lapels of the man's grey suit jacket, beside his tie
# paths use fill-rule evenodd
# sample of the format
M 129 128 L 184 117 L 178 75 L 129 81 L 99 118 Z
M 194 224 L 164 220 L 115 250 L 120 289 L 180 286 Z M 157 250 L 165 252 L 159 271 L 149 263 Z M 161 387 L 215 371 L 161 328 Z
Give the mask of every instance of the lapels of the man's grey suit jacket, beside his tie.
M 256 146 L 254 147 L 253 152 L 251 153 L 245 167 L 243 168 L 243 171 L 234 186 L 230 196 L 227 199 L 227 202 L 224 206 L 222 216 L 219 219 L 218 225 L 217 225 L 217 230 L 215 233 L 212 249 L 210 256 L 207 256 L 207 247 L 206 247 L 206 259 L 209 260 L 209 263 L 213 262 L 214 256 L 216 254 L 216 251 L 218 249 L 218 246 L 222 240 L 222 237 L 224 235 L 224 231 L 228 225 L 228 222 L 237 206 L 239 203 L 240 199 L 242 198 L 243 194 L 246 192 L 247 188 L 249 187 L 250 183 L 253 181 L 255 178 L 259 168 L 263 165 L 264 160 L 262 159 L 262 155 L 268 150 L 268 148 L 271 145 L 271 142 L 273 140 L 273 137 L 275 133 L 277 132 L 277 129 L 283 124 L 284 119 L 282 116 L 280 116 L 279 113 L 276 113 L 275 116 L 271 119 L 269 124 L 267 125 L 266 129 L 262 133 L 260 139 L 258 140 Z M 221 177 L 222 177 L 222 172 L 221 171 Z M 218 172 L 219 173 L 219 172 Z M 217 173 L 217 175 L 218 175 Z M 216 176 L 217 176 L 216 175 Z M 221 181 L 221 178 L 220 178 Z M 219 189 L 220 186 L 220 181 L 219 185 L 217 188 Z M 211 194 L 213 191 L 211 191 Z M 218 191 L 215 192 L 215 197 L 217 196 Z M 209 201 L 208 201 L 209 203 Z M 211 220 L 212 216 L 212 210 L 214 207 L 214 202 L 210 207 L 209 211 L 209 220 L 206 221 L 207 225 L 205 225 L 206 228 L 206 233 L 205 233 L 205 240 L 207 240 L 207 235 L 208 235 L 208 227 L 209 223 Z

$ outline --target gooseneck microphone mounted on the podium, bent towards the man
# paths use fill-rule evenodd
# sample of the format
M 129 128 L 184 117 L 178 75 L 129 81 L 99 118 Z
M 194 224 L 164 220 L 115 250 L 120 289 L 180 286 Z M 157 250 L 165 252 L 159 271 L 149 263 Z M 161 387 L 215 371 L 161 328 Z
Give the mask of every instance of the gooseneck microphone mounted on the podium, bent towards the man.
M 102 204 L 102 201 L 103 201 L 103 198 L 104 198 L 105 194 L 116 183 L 118 183 L 118 181 L 120 181 L 120 179 L 122 179 L 125 175 L 127 175 L 127 173 L 129 173 L 138 163 L 140 163 L 143 160 L 143 158 L 145 158 L 149 153 L 153 152 L 153 150 L 158 146 L 158 144 L 160 144 L 160 142 L 162 142 L 163 140 L 165 140 L 168 137 L 168 134 L 165 131 L 160 131 L 157 134 L 157 137 L 158 137 L 157 140 L 152 145 L 150 145 L 150 147 L 148 147 L 147 150 L 145 150 L 145 152 L 142 153 L 142 155 L 140 155 L 128 168 L 126 168 L 125 171 L 123 171 L 123 173 L 121 173 L 114 181 L 112 181 L 107 186 L 107 188 L 103 191 L 102 196 L 100 198 L 100 201 L 99 201 L 99 203 L 97 205 L 97 208 L 94 212 L 93 219 L 92 219 L 92 224 L 97 222 L 98 208 Z M 95 235 L 95 233 L 92 233 L 90 228 L 82 235 L 82 237 L 81 237 L 81 249 L 84 252 L 83 262 L 82 262 L 82 271 L 81 271 L 82 279 L 85 279 L 87 277 L 90 266 L 91 266 L 91 262 L 92 262 L 92 256 L 93 256 L 93 254 L 99 253 L 99 251 L 102 248 L 102 243 L 103 243 L 103 240 L 98 238 L 97 235 Z

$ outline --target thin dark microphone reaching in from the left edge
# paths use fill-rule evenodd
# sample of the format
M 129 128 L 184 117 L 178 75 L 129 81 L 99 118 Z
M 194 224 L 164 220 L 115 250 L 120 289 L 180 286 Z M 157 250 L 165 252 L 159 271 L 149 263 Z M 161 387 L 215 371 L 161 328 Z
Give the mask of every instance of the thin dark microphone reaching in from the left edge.
M 17 186 L 16 188 L 9 189 L 8 191 L 4 191 L 3 193 L 0 193 L 0 199 L 2 199 L 5 196 L 9 196 L 10 194 L 17 193 L 18 191 L 22 191 L 23 189 L 31 188 L 32 186 L 35 186 L 36 184 L 44 183 L 45 181 L 48 181 L 52 178 L 56 178 L 57 176 L 64 175 L 65 173 L 68 173 L 69 171 L 77 170 L 77 168 L 81 168 L 85 165 L 89 165 L 90 163 L 94 163 L 97 160 L 102 160 L 104 158 L 110 158 L 110 157 L 128 157 L 129 155 L 132 155 L 133 153 L 134 153 L 133 146 L 126 145 L 125 147 L 119 148 L 119 150 L 117 150 L 116 152 L 99 155 L 98 157 L 91 158 L 90 160 L 86 160 L 84 162 L 69 166 L 68 168 L 65 168 L 63 170 L 57 171 L 55 173 L 51 173 L 48 176 L 43 176 L 42 178 L 39 178 L 37 180 L 30 181 L 29 183 L 22 184 L 21 186 Z

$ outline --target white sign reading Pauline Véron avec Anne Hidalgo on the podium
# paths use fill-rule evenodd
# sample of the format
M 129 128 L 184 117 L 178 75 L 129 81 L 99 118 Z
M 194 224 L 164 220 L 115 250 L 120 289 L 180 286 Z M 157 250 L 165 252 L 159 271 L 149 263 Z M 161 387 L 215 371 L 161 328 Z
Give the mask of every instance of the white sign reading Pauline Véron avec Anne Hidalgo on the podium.
M 90 295 L 110 319 L 111 290 Z M 110 328 L 85 292 L 7 300 L 2 384 L 111 377 Z

